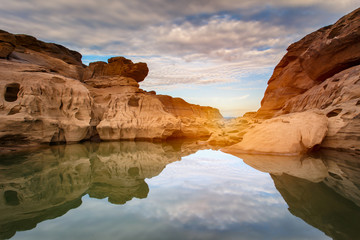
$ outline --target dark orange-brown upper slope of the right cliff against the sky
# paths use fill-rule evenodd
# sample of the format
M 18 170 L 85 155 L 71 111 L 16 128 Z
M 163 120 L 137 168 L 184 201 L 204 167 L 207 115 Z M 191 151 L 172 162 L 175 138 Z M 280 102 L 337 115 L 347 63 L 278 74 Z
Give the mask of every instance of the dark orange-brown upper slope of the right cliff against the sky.
M 291 98 L 360 64 L 359 12 L 360 8 L 288 47 L 268 82 L 258 117 L 272 117 Z

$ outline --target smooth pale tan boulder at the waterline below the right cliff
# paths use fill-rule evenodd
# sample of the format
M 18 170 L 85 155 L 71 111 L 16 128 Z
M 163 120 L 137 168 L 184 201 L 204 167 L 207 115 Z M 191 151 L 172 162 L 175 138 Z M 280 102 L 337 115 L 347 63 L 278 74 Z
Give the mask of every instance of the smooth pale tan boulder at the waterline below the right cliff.
M 328 131 L 327 117 L 316 112 L 279 116 L 250 129 L 227 153 L 298 155 L 321 144 Z

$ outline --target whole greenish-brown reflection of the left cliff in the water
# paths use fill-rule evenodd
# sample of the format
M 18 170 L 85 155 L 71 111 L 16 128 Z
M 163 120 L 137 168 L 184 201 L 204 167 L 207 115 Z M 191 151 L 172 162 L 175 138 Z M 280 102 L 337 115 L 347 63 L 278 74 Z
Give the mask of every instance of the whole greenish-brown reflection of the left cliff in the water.
M 167 164 L 197 147 L 181 143 L 85 143 L 53 146 L 26 156 L 2 156 L 0 238 L 65 214 L 78 207 L 86 193 L 108 197 L 116 204 L 145 198 L 149 192 L 145 178 L 160 174 Z

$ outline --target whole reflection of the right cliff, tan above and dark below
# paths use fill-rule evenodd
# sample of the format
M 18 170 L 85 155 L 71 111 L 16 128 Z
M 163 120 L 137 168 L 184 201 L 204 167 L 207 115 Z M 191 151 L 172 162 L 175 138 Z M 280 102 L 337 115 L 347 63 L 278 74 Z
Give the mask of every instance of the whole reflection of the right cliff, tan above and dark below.
M 289 211 L 333 239 L 360 238 L 360 155 L 322 150 L 316 156 L 244 155 L 271 174 Z

